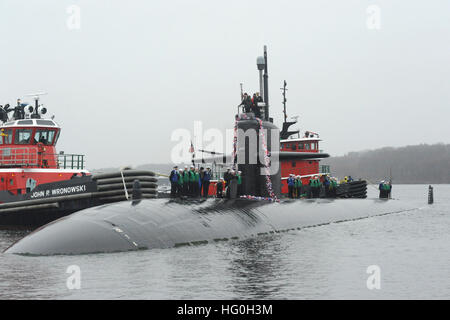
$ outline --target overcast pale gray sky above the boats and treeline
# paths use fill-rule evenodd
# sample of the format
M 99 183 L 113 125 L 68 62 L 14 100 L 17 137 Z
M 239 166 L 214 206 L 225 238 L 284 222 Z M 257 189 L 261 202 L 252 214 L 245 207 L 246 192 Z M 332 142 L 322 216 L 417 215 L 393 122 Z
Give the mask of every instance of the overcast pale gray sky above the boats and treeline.
M 331 155 L 449 143 L 449 14 L 448 0 L 0 0 L 0 104 L 48 92 L 58 149 L 90 168 L 166 162 L 174 129 L 233 126 L 266 44 L 276 123 L 286 79 L 288 115 Z

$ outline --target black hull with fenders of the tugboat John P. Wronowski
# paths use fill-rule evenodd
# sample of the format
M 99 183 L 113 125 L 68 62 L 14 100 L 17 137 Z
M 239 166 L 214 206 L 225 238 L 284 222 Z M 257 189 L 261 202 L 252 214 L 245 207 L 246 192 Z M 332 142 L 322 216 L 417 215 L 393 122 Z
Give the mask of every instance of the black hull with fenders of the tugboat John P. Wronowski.
M 157 178 L 144 170 L 74 177 L 38 185 L 21 195 L 1 191 L 0 227 L 37 228 L 82 209 L 126 200 L 134 180 L 140 181 L 143 198 L 156 197 Z

